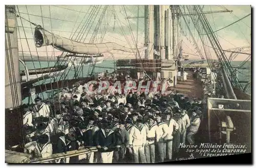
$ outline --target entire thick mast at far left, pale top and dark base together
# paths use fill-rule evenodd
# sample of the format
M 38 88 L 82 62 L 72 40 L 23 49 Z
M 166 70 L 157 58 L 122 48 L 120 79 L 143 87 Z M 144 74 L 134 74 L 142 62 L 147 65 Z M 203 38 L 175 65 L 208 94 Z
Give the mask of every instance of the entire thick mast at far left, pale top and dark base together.
M 22 133 L 22 86 L 19 75 L 18 40 L 15 6 L 5 6 L 5 146 L 24 147 Z

